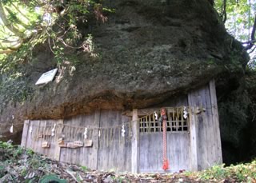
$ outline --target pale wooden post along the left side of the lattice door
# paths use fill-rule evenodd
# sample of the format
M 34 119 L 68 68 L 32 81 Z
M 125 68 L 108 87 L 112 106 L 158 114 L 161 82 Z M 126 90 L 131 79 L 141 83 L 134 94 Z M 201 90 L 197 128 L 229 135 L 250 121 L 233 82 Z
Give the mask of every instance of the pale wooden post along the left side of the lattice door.
M 132 130 L 133 137 L 131 142 L 131 172 L 138 173 L 139 167 L 139 151 L 138 151 L 138 109 L 133 109 L 133 118 L 132 118 Z

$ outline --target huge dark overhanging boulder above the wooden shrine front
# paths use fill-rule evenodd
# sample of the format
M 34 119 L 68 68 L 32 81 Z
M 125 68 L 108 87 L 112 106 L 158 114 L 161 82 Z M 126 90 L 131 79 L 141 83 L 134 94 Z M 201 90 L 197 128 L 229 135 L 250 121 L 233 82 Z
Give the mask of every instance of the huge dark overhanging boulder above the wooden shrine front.
M 111 0 L 106 6 L 115 10 L 106 23 L 78 25 L 82 34 L 91 34 L 88 50 L 67 50 L 75 62 L 63 61 L 54 82 L 34 86 L 56 66 L 47 44 L 36 47 L 34 62 L 18 68 L 22 76 L 12 85 L 2 77 L 6 87 L 1 93 L 8 89 L 25 95 L 19 102 L 1 97 L 2 124 L 70 117 L 98 108 L 145 108 L 202 86 L 230 66 L 231 74 L 242 73 L 242 47 L 206 0 Z M 8 137 L 7 130 L 1 129 Z

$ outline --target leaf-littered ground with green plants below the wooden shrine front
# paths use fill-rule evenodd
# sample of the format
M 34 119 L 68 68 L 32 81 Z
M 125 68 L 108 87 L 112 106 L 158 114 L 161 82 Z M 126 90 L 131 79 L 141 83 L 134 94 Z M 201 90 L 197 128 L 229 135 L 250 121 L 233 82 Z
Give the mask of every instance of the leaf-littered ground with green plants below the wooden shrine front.
M 256 161 L 214 165 L 201 172 L 114 173 L 52 161 L 30 149 L 0 141 L 0 182 L 251 182 L 256 183 Z

